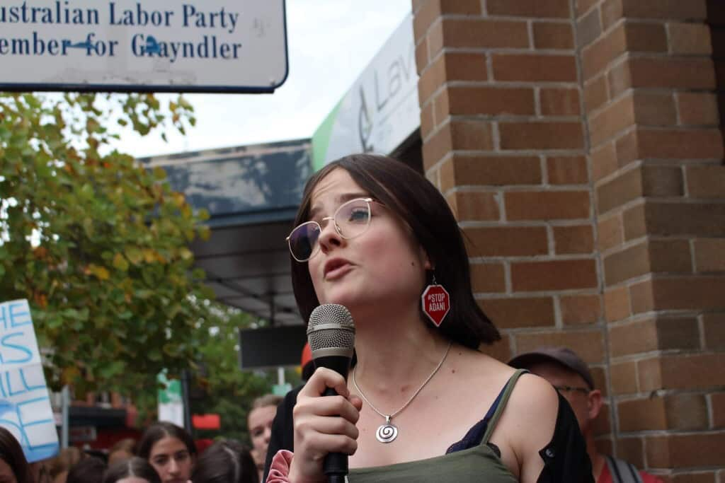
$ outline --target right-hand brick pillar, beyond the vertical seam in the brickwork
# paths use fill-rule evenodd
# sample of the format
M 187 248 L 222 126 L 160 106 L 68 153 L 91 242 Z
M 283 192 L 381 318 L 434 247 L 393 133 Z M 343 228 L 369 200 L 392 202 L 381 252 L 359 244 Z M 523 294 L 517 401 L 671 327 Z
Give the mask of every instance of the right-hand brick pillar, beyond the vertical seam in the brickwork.
M 616 447 L 671 481 L 715 482 L 725 167 L 706 2 L 579 7 Z

